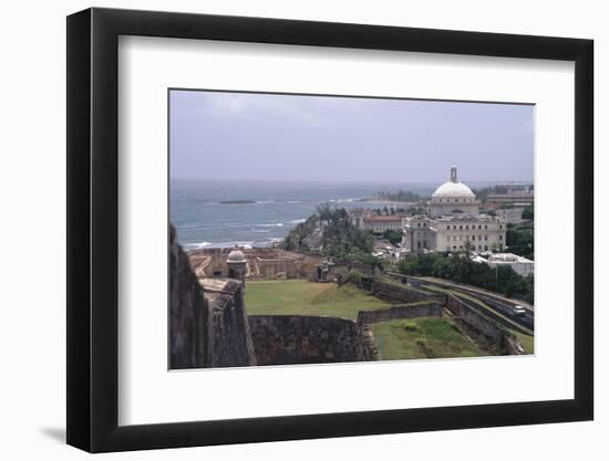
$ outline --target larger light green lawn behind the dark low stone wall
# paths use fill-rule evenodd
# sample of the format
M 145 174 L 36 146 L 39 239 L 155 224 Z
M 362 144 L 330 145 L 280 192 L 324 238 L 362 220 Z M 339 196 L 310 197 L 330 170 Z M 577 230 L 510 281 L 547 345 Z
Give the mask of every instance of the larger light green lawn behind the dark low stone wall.
M 353 319 L 358 311 L 390 306 L 351 284 L 339 287 L 334 283 L 302 280 L 248 281 L 245 301 L 248 315 L 300 314 Z

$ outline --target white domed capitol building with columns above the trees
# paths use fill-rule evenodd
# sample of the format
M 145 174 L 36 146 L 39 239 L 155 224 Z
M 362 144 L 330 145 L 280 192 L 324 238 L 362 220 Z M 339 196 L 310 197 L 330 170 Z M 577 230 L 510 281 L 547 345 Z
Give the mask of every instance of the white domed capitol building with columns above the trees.
M 506 223 L 481 214 L 481 202 L 451 168 L 448 181 L 427 202 L 427 212 L 404 218 L 402 248 L 405 253 L 422 251 L 498 251 L 505 248 Z

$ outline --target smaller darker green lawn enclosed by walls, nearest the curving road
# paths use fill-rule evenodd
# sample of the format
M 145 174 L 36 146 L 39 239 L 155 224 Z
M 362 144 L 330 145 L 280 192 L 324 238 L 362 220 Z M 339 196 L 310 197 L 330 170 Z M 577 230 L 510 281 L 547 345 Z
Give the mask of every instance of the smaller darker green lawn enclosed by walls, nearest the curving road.
M 371 326 L 383 360 L 489 355 L 447 318 L 421 317 Z

